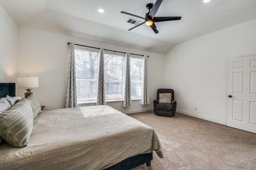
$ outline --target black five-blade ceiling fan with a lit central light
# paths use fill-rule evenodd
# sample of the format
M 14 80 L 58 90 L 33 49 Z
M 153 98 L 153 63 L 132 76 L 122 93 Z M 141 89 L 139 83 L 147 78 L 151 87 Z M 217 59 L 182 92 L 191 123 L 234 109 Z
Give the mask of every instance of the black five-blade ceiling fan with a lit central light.
M 146 13 L 145 18 L 141 17 L 141 16 L 137 16 L 134 14 L 130 14 L 128 12 L 124 12 L 121 11 L 122 14 L 127 14 L 130 16 L 135 16 L 137 18 L 141 18 L 143 20 L 145 20 L 144 22 L 132 27 L 129 29 L 133 30 L 134 28 L 141 26 L 142 24 L 146 24 L 147 26 L 150 26 L 152 28 L 152 30 L 157 34 L 158 33 L 158 29 L 156 28 L 155 22 L 163 22 L 163 21 L 173 21 L 173 20 L 180 20 L 181 16 L 164 16 L 164 17 L 155 17 L 156 12 L 159 8 L 159 6 L 161 5 L 163 0 L 156 0 L 156 3 L 153 4 L 147 4 L 146 8 L 148 9 L 148 13 Z

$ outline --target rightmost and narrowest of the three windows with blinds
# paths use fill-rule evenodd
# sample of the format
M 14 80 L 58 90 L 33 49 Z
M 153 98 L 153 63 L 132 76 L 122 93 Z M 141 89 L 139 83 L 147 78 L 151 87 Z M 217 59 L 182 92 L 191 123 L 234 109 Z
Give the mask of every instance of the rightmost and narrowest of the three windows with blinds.
M 142 57 L 130 57 L 131 96 L 140 99 L 142 92 Z

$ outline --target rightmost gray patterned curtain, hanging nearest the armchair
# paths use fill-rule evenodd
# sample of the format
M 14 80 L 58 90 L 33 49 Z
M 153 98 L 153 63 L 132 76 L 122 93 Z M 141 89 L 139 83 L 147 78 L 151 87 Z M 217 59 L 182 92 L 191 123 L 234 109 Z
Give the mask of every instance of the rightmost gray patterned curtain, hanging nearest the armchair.
M 149 94 L 148 94 L 148 57 L 147 55 L 143 56 L 142 63 L 142 94 L 140 104 L 148 105 L 149 104 Z

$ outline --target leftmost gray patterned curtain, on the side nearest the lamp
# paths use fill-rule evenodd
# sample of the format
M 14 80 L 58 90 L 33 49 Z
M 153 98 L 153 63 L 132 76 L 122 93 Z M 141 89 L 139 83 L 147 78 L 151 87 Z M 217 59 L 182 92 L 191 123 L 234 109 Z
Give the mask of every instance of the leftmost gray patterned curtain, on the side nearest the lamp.
M 76 61 L 75 61 L 75 44 L 70 43 L 69 60 L 68 60 L 68 81 L 66 93 L 66 108 L 77 107 L 76 98 Z

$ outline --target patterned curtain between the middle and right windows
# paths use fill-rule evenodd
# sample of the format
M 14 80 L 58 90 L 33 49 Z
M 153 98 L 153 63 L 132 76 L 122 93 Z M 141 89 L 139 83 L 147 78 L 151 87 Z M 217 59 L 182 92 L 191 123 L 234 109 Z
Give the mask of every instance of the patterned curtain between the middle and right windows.
M 130 76 L 130 53 L 125 54 L 125 72 L 124 72 L 124 104 L 123 107 L 132 106 L 131 97 L 131 76 Z

